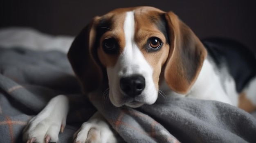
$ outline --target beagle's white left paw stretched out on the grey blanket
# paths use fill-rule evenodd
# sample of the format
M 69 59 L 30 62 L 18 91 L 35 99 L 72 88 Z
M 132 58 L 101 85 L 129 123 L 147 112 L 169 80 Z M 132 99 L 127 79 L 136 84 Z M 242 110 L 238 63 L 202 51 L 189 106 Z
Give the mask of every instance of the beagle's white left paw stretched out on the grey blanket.
M 32 118 L 23 130 L 23 141 L 27 143 L 58 142 L 59 132 L 66 125 L 68 99 L 63 95 L 54 97 L 47 106 Z

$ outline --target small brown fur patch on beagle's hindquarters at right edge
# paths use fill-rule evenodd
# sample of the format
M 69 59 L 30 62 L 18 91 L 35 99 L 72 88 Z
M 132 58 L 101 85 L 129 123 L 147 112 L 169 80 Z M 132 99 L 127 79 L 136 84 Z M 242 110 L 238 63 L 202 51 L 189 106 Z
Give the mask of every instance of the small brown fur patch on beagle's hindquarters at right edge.
M 247 112 L 253 112 L 256 110 L 256 107 L 253 105 L 252 101 L 246 97 L 245 92 L 242 92 L 239 95 L 238 107 Z

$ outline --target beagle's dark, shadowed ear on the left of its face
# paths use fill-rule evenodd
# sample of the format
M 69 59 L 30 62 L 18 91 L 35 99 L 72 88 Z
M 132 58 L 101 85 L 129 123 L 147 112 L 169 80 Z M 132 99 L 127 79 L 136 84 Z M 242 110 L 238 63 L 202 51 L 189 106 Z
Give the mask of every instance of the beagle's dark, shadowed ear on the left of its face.
M 102 81 L 101 68 L 95 58 L 96 25 L 99 17 L 95 17 L 74 39 L 67 57 L 78 77 L 83 92 L 95 90 Z

